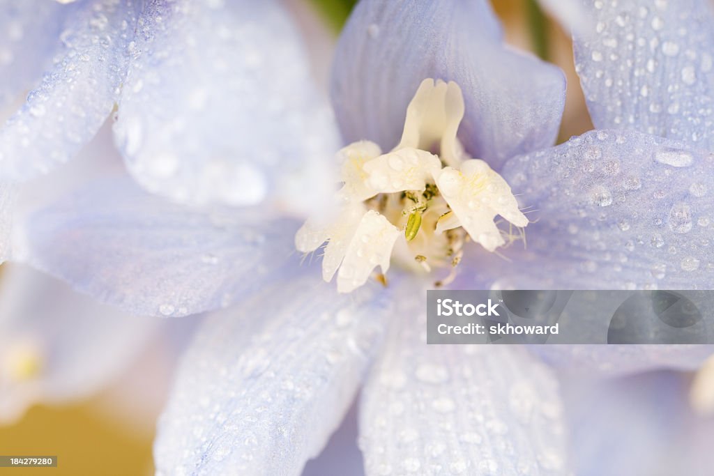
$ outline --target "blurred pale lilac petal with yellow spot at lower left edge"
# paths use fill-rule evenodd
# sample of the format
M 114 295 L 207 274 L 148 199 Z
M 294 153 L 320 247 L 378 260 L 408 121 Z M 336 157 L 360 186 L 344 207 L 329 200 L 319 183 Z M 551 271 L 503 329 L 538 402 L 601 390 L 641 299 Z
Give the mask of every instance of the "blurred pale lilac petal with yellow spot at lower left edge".
M 1 284 L 0 422 L 35 402 L 99 390 L 129 365 L 159 323 L 96 303 L 22 265 L 4 265 Z

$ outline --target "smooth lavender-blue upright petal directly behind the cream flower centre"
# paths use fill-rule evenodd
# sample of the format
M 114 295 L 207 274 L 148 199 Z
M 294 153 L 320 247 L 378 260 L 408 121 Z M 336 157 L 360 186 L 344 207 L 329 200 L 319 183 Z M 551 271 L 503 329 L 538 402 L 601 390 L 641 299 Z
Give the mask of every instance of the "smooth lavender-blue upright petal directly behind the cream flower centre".
M 396 146 L 406 107 L 426 78 L 461 86 L 459 138 L 494 168 L 555 141 L 563 72 L 503 44 L 484 0 L 364 0 L 355 7 L 333 65 L 332 101 L 345 141 Z

